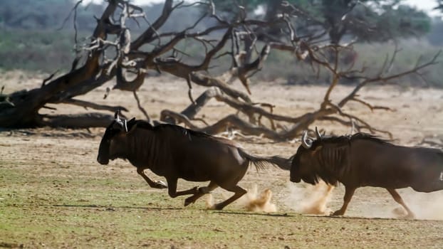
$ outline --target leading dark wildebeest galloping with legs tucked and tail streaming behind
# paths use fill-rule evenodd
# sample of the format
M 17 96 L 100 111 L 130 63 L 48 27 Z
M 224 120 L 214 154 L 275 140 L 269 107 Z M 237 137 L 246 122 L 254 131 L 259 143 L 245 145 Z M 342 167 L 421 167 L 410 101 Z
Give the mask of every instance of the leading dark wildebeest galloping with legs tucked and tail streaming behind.
M 214 205 L 222 209 L 246 194 L 237 185 L 246 174 L 249 164 L 262 169 L 265 164 L 274 164 L 289 170 L 291 161 L 282 157 L 256 157 L 244 152 L 234 142 L 213 137 L 203 132 L 185 129 L 174 124 L 152 126 L 143 120 L 115 120 L 106 129 L 98 149 L 97 161 L 108 164 L 113 159 L 128 159 L 137 167 L 137 173 L 152 188 L 167 188 L 174 198 L 192 195 L 184 206 L 194 203 L 217 186 L 234 192 L 234 196 Z M 165 176 L 167 186 L 161 181 L 152 181 L 144 173 L 150 169 L 158 176 Z M 177 191 L 177 179 L 187 181 L 210 181 L 208 186 Z

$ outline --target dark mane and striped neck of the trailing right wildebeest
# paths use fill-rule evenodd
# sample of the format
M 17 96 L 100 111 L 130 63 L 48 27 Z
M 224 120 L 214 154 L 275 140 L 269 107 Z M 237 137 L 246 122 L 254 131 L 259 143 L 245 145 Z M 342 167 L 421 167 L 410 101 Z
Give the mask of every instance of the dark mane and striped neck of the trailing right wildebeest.
M 336 185 L 337 178 L 348 174 L 351 169 L 349 163 L 350 145 L 358 139 L 392 145 L 387 140 L 363 132 L 344 136 L 324 136 L 321 139 L 316 139 L 313 141 L 311 149 L 315 151 L 320 146 L 321 149 L 317 156 L 320 167 L 315 169 L 313 176 L 311 176 L 314 181 L 318 182 L 318 179 L 322 179 L 327 184 Z

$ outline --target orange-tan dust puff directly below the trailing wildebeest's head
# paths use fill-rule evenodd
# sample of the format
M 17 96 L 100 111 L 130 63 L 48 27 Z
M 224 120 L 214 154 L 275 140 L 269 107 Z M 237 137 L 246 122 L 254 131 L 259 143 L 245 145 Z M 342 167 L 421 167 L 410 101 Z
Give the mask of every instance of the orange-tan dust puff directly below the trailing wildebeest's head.
M 301 186 L 288 185 L 289 194 L 286 204 L 297 213 L 303 214 L 330 214 L 328 202 L 332 196 L 334 186 L 320 181 L 316 185 Z

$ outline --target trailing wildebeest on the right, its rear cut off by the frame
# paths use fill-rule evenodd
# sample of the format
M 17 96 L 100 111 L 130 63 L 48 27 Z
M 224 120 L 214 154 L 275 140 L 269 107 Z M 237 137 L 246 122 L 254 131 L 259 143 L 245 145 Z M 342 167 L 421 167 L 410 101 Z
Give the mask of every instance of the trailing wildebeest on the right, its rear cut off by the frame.
M 334 216 L 345 213 L 355 189 L 361 186 L 387 189 L 406 209 L 407 218 L 414 218 L 414 213 L 395 189 L 443 189 L 443 152 L 439 149 L 397 146 L 365 133 L 322 137 L 317 128 L 316 139 L 303 132 L 301 140 L 293 156 L 291 181 L 317 184 L 322 179 L 331 185 L 342 183 L 344 202 Z

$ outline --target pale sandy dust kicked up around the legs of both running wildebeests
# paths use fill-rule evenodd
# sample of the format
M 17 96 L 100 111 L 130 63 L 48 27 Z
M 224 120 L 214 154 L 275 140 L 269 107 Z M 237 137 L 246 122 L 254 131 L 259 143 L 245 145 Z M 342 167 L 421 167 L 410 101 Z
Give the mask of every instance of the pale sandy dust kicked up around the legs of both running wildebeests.
M 369 188 L 369 187 L 368 187 Z M 308 184 L 291 184 L 288 183 L 286 196 L 286 206 L 293 209 L 297 213 L 313 214 L 313 215 L 329 215 L 331 209 L 328 207 L 333 198 L 334 186 L 329 186 L 323 181 L 313 186 Z M 363 189 L 363 188 L 362 188 Z M 340 189 L 339 189 L 340 190 Z M 343 191 L 343 190 L 340 190 Z M 398 189 L 406 205 L 415 214 L 415 218 L 419 220 L 443 220 L 443 191 L 435 191 L 432 193 L 420 193 L 413 189 Z M 358 195 L 365 193 L 358 193 Z M 259 192 L 255 185 L 247 194 L 239 198 L 235 203 L 247 211 L 256 212 L 276 212 L 278 208 L 272 202 L 273 193 L 270 189 Z M 231 195 L 222 193 L 223 199 L 229 198 Z M 373 196 L 373 194 L 368 194 Z M 354 196 L 351 201 L 351 208 L 348 208 L 345 216 L 364 217 L 364 218 L 405 218 L 406 211 L 400 204 L 394 201 L 392 196 L 387 193 L 380 194 L 380 198 L 370 199 Z M 373 198 L 373 197 L 371 197 Z M 342 196 L 338 197 L 339 205 L 343 203 Z M 336 200 L 335 200 L 336 201 Z M 336 203 L 334 204 L 335 206 Z M 212 194 L 207 195 L 207 208 L 213 208 L 214 198 Z

